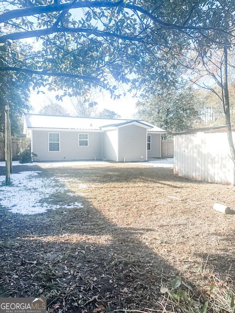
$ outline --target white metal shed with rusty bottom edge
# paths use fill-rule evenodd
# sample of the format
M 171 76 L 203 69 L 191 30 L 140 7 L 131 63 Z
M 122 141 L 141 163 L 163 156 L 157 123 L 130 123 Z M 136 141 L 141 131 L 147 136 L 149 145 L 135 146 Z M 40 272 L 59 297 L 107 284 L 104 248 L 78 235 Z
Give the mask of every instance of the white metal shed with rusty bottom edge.
M 230 156 L 226 127 L 192 129 L 174 135 L 175 175 L 235 185 Z

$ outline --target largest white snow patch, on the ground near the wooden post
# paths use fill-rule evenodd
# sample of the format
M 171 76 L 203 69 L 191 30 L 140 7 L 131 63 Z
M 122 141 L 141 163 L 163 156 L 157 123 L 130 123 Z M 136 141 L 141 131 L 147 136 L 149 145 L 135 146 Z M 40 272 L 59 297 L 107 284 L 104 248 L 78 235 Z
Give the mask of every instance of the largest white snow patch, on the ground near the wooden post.
M 49 204 L 46 199 L 54 193 L 67 190 L 56 178 L 40 178 L 39 171 L 20 172 L 11 175 L 11 186 L 2 185 L 5 177 L 0 176 L 0 205 L 12 213 L 38 214 L 48 209 L 83 207 L 80 202 Z M 73 194 L 73 196 L 76 196 Z

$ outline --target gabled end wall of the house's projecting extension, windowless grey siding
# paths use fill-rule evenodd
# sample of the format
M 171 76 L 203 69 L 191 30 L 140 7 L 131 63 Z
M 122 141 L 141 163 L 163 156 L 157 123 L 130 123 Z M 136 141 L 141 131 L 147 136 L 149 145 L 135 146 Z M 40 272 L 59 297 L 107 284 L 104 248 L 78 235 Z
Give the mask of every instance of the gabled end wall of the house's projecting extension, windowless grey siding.
M 147 132 L 137 125 L 118 129 L 118 160 L 144 161 L 147 159 Z

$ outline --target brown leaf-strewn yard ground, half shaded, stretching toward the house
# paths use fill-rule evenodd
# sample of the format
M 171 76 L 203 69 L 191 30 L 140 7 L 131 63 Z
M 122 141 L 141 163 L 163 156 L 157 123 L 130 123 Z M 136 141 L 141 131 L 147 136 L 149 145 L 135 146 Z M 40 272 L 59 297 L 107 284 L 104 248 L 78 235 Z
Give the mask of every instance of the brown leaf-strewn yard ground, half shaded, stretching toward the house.
M 1 208 L 0 296 L 46 296 L 61 313 L 161 309 L 160 287 L 177 273 L 202 294 L 212 276 L 235 278 L 235 216 L 212 209 L 235 209 L 234 187 L 132 164 L 36 170 L 62 178 L 83 207 Z

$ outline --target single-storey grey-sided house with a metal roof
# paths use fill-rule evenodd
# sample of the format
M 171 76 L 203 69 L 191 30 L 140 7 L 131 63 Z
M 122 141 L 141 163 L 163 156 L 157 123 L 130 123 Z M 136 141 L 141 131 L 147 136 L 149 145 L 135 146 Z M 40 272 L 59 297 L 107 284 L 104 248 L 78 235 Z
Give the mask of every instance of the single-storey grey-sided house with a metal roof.
M 38 161 L 161 157 L 161 134 L 142 120 L 25 114 L 24 134 Z

